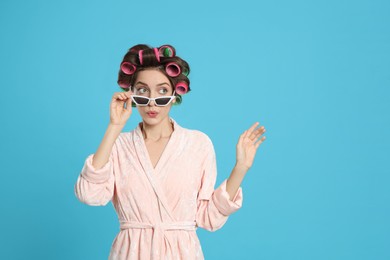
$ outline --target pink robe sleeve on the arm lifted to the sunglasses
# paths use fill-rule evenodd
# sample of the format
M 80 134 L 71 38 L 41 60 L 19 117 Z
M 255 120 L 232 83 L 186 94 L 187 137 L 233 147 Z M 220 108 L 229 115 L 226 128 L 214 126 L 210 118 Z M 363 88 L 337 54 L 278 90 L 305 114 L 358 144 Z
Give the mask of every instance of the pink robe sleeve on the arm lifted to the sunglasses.
M 104 206 L 114 194 L 114 163 L 117 147 L 114 144 L 108 162 L 100 169 L 92 165 L 94 154 L 85 160 L 84 166 L 75 185 L 76 197 L 91 206 Z

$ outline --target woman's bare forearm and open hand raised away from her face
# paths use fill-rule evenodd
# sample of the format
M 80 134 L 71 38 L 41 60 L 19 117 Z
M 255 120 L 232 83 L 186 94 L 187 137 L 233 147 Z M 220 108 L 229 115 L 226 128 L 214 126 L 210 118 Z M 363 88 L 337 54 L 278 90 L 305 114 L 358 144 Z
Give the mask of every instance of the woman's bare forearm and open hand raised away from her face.
M 265 136 L 260 138 L 265 133 L 265 128 L 264 126 L 258 126 L 259 123 L 253 124 L 238 140 L 236 147 L 236 165 L 226 182 L 226 191 L 229 193 L 231 200 L 241 186 L 247 171 L 252 167 L 257 148 L 265 140 Z

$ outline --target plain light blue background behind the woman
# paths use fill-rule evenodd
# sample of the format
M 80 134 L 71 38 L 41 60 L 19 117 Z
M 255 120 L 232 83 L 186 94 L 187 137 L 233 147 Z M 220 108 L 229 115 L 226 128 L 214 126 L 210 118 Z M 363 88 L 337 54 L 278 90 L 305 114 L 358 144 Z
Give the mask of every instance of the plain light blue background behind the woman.
M 127 49 L 169 43 L 193 89 L 172 117 L 211 137 L 217 184 L 239 134 L 267 128 L 243 208 L 198 231 L 206 259 L 390 259 L 389 14 L 379 0 L 1 1 L 0 258 L 107 258 L 113 207 L 73 185 Z

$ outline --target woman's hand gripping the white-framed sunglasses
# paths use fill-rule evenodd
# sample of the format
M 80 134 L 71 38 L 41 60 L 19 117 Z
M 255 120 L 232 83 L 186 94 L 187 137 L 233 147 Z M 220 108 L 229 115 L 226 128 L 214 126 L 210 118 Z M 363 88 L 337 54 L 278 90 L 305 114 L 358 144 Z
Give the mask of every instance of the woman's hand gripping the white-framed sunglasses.
M 110 123 L 112 125 L 124 126 L 130 118 L 132 112 L 131 94 L 131 91 L 116 92 L 112 96 L 110 104 Z

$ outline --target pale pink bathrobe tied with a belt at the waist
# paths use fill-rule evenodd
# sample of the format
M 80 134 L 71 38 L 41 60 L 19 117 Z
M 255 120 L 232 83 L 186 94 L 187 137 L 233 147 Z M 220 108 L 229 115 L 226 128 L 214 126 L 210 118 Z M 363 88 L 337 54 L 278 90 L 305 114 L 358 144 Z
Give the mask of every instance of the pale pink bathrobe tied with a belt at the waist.
M 214 190 L 217 169 L 211 140 L 202 132 L 174 131 L 155 168 L 140 126 L 117 138 L 101 169 L 88 156 L 75 185 L 78 199 L 99 206 L 112 201 L 120 232 L 109 259 L 204 259 L 196 228 L 221 228 L 242 203 L 226 180 Z

